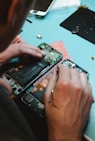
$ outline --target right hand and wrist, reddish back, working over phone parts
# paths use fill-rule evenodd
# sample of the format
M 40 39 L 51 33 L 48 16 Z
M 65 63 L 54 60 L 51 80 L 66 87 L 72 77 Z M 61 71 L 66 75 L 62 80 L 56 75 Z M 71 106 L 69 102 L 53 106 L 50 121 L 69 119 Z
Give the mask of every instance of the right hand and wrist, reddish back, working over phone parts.
M 80 141 L 92 103 L 87 76 L 60 64 L 45 93 L 49 141 Z

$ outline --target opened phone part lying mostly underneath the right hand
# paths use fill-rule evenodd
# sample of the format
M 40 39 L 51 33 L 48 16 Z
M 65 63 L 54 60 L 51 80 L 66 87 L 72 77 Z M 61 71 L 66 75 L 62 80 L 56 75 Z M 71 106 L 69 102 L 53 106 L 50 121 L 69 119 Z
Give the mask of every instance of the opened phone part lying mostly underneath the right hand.
M 88 72 L 78 66 L 73 61 L 67 59 L 62 62 L 63 65 L 68 66 L 69 68 L 74 68 L 78 72 L 83 72 L 89 76 Z M 49 74 L 41 82 L 36 84 L 36 86 L 30 87 L 26 92 L 21 96 L 21 101 L 26 104 L 32 111 L 36 112 L 38 116 L 44 117 L 44 94 L 48 85 L 49 78 L 52 74 Z

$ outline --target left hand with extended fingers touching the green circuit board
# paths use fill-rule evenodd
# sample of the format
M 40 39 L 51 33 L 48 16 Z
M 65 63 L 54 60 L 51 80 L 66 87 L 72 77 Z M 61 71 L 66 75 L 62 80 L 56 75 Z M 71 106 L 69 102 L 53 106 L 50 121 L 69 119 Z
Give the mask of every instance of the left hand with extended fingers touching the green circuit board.
M 20 55 L 30 55 L 41 58 L 45 55 L 45 53 L 37 47 L 26 44 L 19 36 L 17 36 L 11 42 L 9 47 L 0 53 L 0 66 L 5 64 L 10 59 Z

